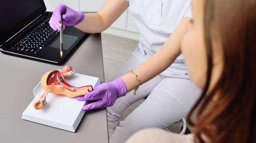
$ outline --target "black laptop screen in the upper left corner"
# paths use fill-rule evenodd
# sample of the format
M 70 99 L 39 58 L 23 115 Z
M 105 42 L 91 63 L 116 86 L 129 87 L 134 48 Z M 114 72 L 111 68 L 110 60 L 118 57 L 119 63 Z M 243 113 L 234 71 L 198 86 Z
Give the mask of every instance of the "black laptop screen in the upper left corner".
M 46 11 L 43 0 L 0 1 L 0 45 Z

